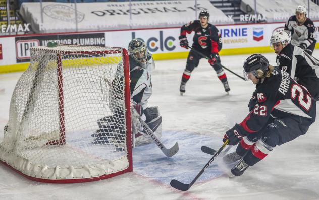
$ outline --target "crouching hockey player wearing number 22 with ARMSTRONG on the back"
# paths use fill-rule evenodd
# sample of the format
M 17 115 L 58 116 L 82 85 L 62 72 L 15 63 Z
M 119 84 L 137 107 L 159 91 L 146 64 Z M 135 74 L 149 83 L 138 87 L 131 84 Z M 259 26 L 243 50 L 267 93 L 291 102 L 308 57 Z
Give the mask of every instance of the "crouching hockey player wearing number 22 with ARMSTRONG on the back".
M 231 169 L 240 176 L 265 158 L 277 145 L 307 132 L 315 121 L 316 101 L 290 75 L 260 54 L 244 62 L 244 76 L 256 85 L 257 101 L 247 117 L 226 131 L 223 142 L 237 145 L 236 152 L 223 157 L 226 163 L 239 162 Z

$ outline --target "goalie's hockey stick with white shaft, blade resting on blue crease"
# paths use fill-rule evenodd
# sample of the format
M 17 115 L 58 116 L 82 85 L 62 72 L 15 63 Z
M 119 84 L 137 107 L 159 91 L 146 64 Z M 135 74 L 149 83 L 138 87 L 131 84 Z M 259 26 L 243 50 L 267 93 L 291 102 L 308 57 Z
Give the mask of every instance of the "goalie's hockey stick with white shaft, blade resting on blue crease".
M 174 156 L 178 150 L 178 143 L 176 142 L 175 145 L 173 147 L 171 147 L 170 149 L 167 149 L 163 143 L 157 138 L 157 136 L 154 134 L 154 132 L 152 131 L 152 129 L 150 127 L 148 127 L 148 125 L 145 123 L 145 121 L 142 119 L 142 117 L 137 113 L 137 111 L 135 110 L 135 108 L 132 108 L 134 115 L 138 116 L 139 121 L 142 124 L 142 127 L 144 128 L 146 134 L 148 136 L 150 136 L 153 141 L 156 143 L 157 147 L 159 149 L 162 150 L 162 152 L 167 156 L 167 157 L 172 157 Z

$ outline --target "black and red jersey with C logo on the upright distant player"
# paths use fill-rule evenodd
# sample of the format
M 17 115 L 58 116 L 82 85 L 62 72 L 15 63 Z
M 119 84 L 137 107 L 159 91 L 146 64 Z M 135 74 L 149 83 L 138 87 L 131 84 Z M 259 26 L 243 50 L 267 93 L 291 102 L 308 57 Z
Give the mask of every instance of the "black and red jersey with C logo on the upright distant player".
M 218 53 L 222 49 L 222 37 L 216 26 L 209 24 L 206 28 L 202 28 L 199 20 L 194 20 L 185 24 L 181 28 L 181 35 L 186 36 L 195 32 L 192 47 L 205 54 Z

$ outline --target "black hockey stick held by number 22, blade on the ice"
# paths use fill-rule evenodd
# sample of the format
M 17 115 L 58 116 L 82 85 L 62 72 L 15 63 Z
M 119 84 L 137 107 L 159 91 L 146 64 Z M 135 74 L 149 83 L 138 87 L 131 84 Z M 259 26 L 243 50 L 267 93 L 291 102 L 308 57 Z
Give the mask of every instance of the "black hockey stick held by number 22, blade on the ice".
M 224 147 L 227 144 L 228 144 L 228 139 L 224 142 L 222 147 L 214 154 L 214 156 L 212 156 L 212 158 L 208 161 L 208 163 L 204 166 L 204 168 L 201 169 L 201 171 L 197 174 L 197 176 L 194 178 L 194 180 L 191 183 L 185 184 L 178 180 L 173 179 L 171 180 L 171 186 L 181 191 L 187 191 L 195 183 L 195 181 L 199 178 L 199 176 L 201 176 L 204 173 L 204 171 L 209 167 L 211 162 L 214 161 L 214 159 L 221 153 L 221 151 L 223 151 Z

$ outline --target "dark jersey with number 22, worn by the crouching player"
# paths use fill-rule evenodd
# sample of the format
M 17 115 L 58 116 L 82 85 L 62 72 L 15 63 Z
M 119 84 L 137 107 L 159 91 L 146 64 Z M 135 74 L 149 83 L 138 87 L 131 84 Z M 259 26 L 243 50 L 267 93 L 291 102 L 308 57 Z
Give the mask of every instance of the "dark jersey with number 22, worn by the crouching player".
M 301 116 L 307 123 L 315 121 L 316 101 L 285 71 L 275 68 L 269 78 L 259 81 L 255 92 L 256 104 L 238 126 L 244 135 L 259 131 L 270 117 Z

